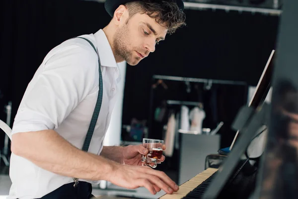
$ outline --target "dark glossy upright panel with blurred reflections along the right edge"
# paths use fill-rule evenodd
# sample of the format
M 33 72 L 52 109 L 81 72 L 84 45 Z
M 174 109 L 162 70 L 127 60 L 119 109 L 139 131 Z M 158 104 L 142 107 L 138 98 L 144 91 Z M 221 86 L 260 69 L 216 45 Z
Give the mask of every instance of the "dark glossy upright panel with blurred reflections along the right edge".
M 279 23 L 270 126 L 254 198 L 298 198 L 298 0 L 285 0 Z M 269 183 L 269 184 L 268 184 Z

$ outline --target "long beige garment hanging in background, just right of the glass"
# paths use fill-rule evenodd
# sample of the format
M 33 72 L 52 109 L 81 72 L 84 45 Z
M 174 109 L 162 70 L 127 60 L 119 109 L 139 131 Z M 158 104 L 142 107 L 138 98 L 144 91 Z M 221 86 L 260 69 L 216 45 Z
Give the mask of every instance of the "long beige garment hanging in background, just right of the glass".
M 164 156 L 172 157 L 174 151 L 174 140 L 175 140 L 175 114 L 172 113 L 167 123 L 167 129 L 165 133 L 164 145 L 165 150 L 163 151 Z

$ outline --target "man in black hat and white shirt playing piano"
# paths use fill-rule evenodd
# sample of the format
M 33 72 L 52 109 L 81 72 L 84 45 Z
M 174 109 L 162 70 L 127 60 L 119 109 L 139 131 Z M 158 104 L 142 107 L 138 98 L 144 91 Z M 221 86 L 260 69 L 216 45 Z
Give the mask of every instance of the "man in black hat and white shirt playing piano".
M 117 97 L 117 63 L 137 65 L 154 52 L 156 43 L 184 24 L 183 2 L 106 0 L 105 7 L 110 23 L 80 36 L 95 46 L 99 59 L 85 39 L 69 39 L 47 54 L 29 83 L 12 128 L 9 199 L 87 199 L 91 184 L 100 180 L 152 194 L 179 189 L 163 172 L 142 166 L 144 147 L 104 147 L 102 141 Z M 87 153 L 82 146 L 99 77 L 102 104 Z

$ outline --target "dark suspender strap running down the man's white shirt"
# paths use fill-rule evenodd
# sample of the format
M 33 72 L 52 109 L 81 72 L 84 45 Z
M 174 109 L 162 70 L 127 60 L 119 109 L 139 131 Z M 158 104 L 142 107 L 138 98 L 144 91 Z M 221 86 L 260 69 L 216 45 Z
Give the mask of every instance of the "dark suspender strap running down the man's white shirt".
M 90 121 L 90 125 L 89 125 L 88 131 L 87 131 L 87 135 L 85 137 L 85 141 L 84 141 L 84 144 L 83 144 L 83 147 L 82 147 L 83 151 L 88 152 L 89 145 L 90 145 L 91 138 L 92 138 L 93 131 L 94 131 L 94 127 L 95 127 L 95 124 L 96 124 L 96 121 L 97 121 L 97 118 L 98 118 L 98 114 L 99 114 L 100 107 L 101 107 L 101 102 L 102 102 L 103 85 L 102 85 L 102 75 L 101 75 L 101 69 L 100 69 L 101 64 L 100 64 L 100 58 L 99 58 L 98 52 L 97 52 L 96 48 L 94 47 L 94 45 L 92 44 L 92 42 L 89 41 L 86 38 L 83 38 L 83 37 L 75 37 L 75 38 L 81 38 L 81 39 L 86 40 L 93 47 L 93 49 L 96 52 L 97 57 L 98 57 L 98 73 L 99 73 L 98 97 L 97 97 L 96 105 L 95 105 L 93 115 L 92 115 L 92 118 L 91 118 L 91 121 Z M 77 178 L 73 178 L 73 179 L 74 179 L 74 187 L 76 187 L 77 184 L 78 184 L 78 181 L 77 181 L 78 179 Z

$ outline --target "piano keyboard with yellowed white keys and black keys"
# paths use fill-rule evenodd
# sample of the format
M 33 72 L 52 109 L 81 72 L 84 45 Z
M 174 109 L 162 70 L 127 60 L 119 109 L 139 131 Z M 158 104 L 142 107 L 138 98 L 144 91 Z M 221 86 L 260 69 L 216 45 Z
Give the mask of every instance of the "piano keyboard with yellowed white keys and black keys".
M 218 169 L 208 168 L 179 186 L 173 194 L 165 194 L 159 199 L 198 199 L 203 196 Z

